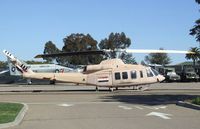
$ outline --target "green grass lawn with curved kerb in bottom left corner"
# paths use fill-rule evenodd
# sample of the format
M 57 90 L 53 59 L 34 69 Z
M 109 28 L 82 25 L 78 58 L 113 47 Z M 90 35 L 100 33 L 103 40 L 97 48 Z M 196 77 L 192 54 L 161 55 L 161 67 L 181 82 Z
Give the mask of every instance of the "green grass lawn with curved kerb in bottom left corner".
M 0 102 L 0 124 L 14 121 L 22 107 L 19 103 Z

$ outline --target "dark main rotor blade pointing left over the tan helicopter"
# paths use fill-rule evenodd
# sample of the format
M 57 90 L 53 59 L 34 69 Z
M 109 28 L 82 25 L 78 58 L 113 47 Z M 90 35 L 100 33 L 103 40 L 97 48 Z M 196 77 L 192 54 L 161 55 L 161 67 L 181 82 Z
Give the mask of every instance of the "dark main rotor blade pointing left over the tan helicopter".
M 40 55 L 36 55 L 35 58 L 74 56 L 74 55 L 91 55 L 91 54 L 105 54 L 105 52 L 101 51 L 101 50 L 79 51 L 79 52 L 62 52 L 62 53 L 53 53 L 53 54 L 40 54 Z

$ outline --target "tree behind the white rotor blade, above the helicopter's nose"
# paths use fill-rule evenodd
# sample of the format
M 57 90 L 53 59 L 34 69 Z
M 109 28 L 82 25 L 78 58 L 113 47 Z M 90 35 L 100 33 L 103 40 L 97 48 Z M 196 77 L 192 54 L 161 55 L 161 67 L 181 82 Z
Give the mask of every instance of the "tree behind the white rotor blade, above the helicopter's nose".
M 160 50 L 164 50 L 160 48 Z M 145 61 L 150 64 L 160 64 L 166 65 L 171 63 L 171 59 L 167 53 L 150 53 L 149 55 L 145 56 Z

